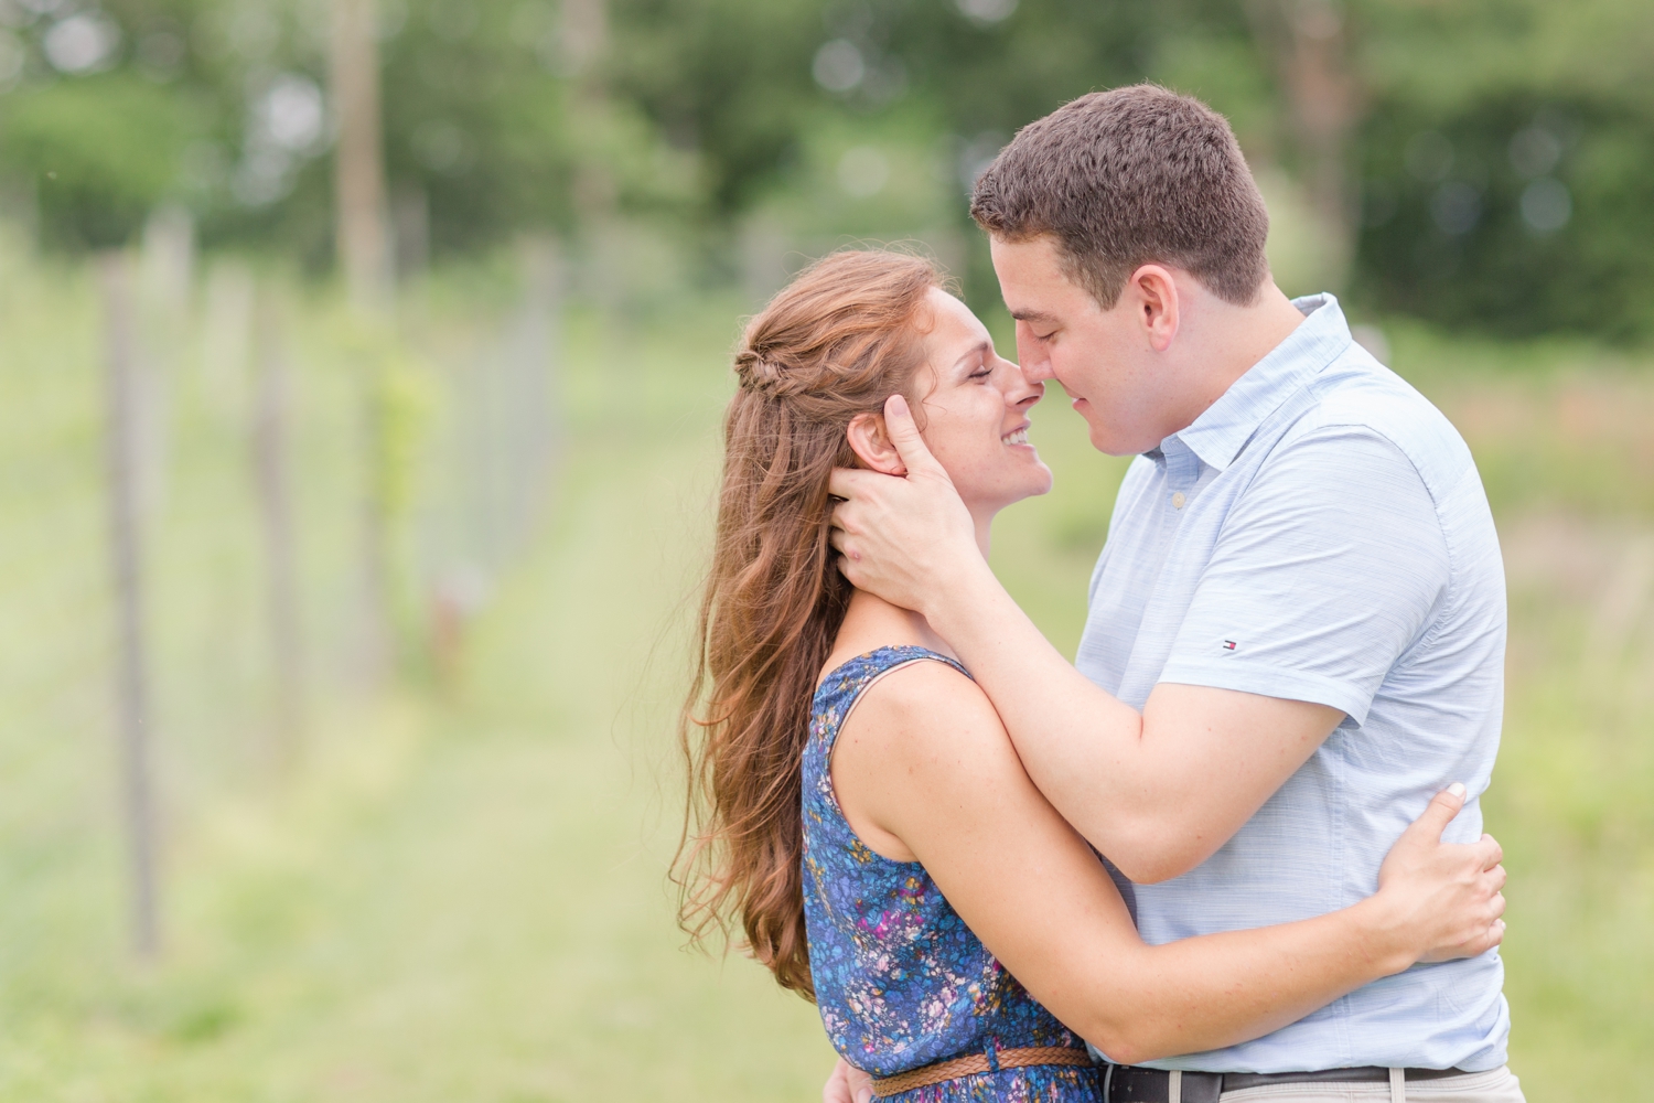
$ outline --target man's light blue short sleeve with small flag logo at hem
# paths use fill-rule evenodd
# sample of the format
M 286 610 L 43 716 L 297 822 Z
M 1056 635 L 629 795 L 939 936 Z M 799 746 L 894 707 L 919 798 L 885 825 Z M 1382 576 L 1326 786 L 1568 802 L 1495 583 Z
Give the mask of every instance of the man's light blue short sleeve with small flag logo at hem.
M 1408 456 L 1366 427 L 1312 430 L 1231 508 L 1159 680 L 1315 701 L 1361 724 L 1449 579 Z

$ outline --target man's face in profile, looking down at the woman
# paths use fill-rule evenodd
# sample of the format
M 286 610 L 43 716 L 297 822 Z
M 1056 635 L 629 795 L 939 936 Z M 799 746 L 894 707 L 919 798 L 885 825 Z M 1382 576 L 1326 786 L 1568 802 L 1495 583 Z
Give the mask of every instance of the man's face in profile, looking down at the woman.
M 1150 347 L 1133 294 L 1103 309 L 1062 271 L 1057 240 L 992 238 L 994 271 L 1017 319 L 1017 359 L 1029 380 L 1055 379 L 1110 455 L 1148 451 L 1166 425 L 1163 365 Z

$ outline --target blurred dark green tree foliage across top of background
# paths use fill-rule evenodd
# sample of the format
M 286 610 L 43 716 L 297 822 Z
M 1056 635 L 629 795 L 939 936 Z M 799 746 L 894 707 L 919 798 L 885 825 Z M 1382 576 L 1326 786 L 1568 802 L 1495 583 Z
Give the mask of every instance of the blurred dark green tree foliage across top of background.
M 170 200 L 208 245 L 326 266 L 327 8 L 0 0 L 0 177 L 48 241 L 104 245 Z M 1260 169 L 1307 179 L 1269 12 L 1341 28 L 1360 303 L 1507 332 L 1654 331 L 1642 0 L 380 0 L 394 222 L 405 251 L 453 255 L 645 215 L 726 273 L 761 210 L 812 240 L 953 227 L 982 301 L 971 180 L 1085 91 L 1199 94 Z M 868 142 L 928 190 L 852 182 L 824 205 L 844 175 L 824 157 Z

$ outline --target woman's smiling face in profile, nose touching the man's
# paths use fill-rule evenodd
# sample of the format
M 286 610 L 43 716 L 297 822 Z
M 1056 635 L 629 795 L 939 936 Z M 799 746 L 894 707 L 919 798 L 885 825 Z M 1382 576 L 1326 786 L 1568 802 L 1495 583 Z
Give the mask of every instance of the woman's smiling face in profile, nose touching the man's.
M 1050 468 L 1027 442 L 1029 410 L 1045 384 L 994 352 L 987 327 L 939 288 L 928 299 L 931 327 L 915 390 L 923 394 L 925 443 L 946 468 L 959 498 L 987 514 L 1050 489 Z M 930 394 L 925 375 L 930 375 Z

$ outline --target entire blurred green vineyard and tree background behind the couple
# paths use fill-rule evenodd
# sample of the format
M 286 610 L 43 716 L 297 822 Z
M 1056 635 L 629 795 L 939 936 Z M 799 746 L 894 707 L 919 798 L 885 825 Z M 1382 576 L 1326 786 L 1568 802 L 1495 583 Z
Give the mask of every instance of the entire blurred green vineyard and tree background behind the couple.
M 1646 0 L 0 0 L 0 1100 L 810 1100 L 683 953 L 739 319 L 1154 79 L 1464 432 L 1510 575 L 1512 1065 L 1654 1052 Z M 1123 461 L 996 567 L 1072 650 Z

